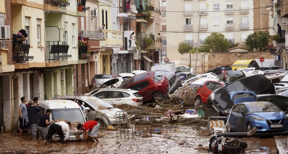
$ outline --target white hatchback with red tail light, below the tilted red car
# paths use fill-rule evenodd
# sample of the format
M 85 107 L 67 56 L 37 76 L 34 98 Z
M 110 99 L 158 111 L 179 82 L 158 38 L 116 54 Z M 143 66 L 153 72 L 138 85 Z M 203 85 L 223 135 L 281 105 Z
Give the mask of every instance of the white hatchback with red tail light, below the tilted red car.
M 109 104 L 128 104 L 133 106 L 143 104 L 143 97 L 138 94 L 138 91 L 131 89 L 103 88 L 94 90 L 88 95 L 93 95 Z

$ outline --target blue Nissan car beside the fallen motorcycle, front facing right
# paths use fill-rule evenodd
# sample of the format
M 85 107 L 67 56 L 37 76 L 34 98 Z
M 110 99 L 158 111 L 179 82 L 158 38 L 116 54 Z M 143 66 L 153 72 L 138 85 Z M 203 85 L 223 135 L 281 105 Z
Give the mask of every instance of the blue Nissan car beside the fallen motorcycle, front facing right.
M 257 132 L 288 130 L 287 114 L 270 102 L 239 102 L 230 112 L 228 132 L 247 132 L 254 127 Z

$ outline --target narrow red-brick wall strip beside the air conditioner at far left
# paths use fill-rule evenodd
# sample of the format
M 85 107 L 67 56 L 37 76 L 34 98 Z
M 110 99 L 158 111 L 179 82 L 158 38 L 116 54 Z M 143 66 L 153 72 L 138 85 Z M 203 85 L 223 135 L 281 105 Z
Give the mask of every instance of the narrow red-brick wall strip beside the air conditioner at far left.
M 12 18 L 11 18 L 11 0 L 5 0 L 5 25 L 10 26 L 10 36 L 12 37 Z M 7 65 L 12 64 L 12 41 L 6 42 L 7 51 Z

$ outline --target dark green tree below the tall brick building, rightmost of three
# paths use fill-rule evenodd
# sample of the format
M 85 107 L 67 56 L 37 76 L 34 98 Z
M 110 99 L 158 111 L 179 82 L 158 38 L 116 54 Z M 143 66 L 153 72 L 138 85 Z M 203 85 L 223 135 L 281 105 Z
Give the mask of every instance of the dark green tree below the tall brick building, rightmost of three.
M 269 32 L 259 31 L 247 36 L 245 44 L 250 50 L 263 51 L 268 45 Z

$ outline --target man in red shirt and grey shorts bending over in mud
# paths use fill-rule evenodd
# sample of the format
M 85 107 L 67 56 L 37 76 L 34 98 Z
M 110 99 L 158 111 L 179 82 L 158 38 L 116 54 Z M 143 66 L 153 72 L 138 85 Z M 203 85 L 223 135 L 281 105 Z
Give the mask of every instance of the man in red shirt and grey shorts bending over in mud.
M 97 142 L 99 142 L 97 138 L 99 128 L 100 128 L 100 124 L 94 120 L 84 122 L 83 125 L 78 124 L 77 129 L 80 131 L 83 131 L 83 138 L 82 138 L 81 143 L 83 143 L 83 141 L 85 143 L 88 136 L 93 137 Z

